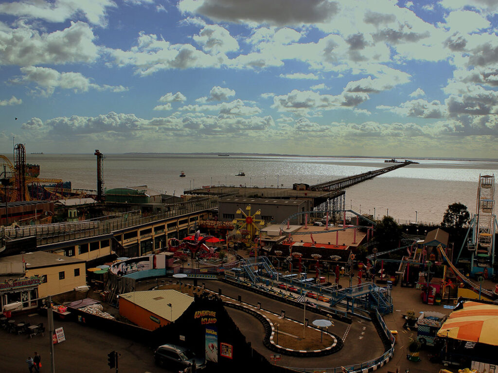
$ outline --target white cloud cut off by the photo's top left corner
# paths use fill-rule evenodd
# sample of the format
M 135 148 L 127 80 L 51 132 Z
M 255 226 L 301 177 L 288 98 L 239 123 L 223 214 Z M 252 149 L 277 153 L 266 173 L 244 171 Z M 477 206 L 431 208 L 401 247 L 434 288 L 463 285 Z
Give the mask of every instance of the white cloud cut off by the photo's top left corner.
M 106 11 L 116 7 L 112 0 L 23 0 L 0 4 L 0 13 L 17 17 L 43 19 L 62 23 L 76 17 L 83 17 L 90 23 L 106 25 Z

